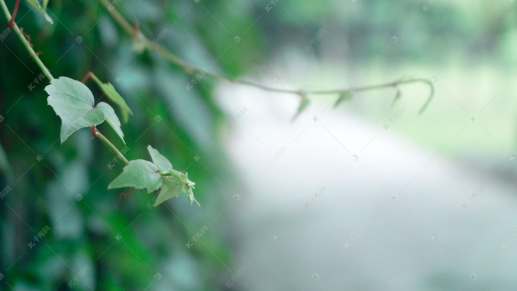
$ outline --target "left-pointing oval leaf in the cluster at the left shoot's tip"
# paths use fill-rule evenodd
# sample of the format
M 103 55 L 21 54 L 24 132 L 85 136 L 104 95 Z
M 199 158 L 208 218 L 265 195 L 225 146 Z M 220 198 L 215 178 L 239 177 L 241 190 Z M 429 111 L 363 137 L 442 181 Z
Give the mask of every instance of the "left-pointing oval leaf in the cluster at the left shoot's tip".
M 119 175 L 116 177 L 108 189 L 134 187 L 136 189 L 147 188 L 147 192 L 153 192 L 160 188 L 163 183 L 161 174 L 158 172 L 158 167 L 145 160 L 133 160 L 129 165 L 126 165 Z

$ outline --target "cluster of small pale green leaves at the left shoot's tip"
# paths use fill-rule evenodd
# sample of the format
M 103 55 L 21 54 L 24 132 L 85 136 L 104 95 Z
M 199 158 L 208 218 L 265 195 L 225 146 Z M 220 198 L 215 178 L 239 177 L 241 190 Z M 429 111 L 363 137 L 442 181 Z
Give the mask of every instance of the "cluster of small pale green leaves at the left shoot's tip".
M 108 189 L 134 187 L 147 189 L 148 193 L 161 189 L 154 201 L 155 207 L 185 192 L 191 205 L 194 201 L 199 205 L 192 192 L 196 183 L 188 179 L 188 173 L 174 170 L 170 161 L 150 145 L 148 151 L 152 163 L 142 159 L 130 161 L 119 177 L 108 185 Z

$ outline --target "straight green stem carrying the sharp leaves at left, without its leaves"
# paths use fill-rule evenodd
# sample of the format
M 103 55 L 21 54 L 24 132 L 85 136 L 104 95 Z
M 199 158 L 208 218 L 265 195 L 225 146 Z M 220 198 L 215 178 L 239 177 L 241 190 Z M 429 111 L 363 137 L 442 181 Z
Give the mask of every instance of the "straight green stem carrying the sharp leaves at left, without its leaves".
M 18 3 L 18 1 L 17 1 L 17 3 Z M 12 19 L 14 19 L 14 14 L 15 13 L 13 12 L 13 16 L 11 16 L 11 14 L 9 12 L 9 9 L 6 6 L 6 2 L 4 0 L 0 0 L 0 6 L 1 6 L 4 14 L 6 14 L 6 17 L 7 17 L 8 21 L 12 21 Z M 17 8 L 15 8 L 15 9 L 17 9 Z M 41 70 L 43 71 L 45 76 L 48 78 L 48 80 L 52 81 L 54 79 L 54 77 L 52 76 L 52 74 L 50 74 L 50 70 L 48 70 L 48 68 L 45 66 L 43 61 L 41 61 L 41 59 L 39 59 L 39 57 L 36 54 L 36 52 L 34 52 L 34 49 L 32 49 L 32 46 L 30 46 L 29 41 L 26 39 L 26 37 L 21 32 L 20 28 L 18 27 L 18 25 L 14 21 L 12 21 L 12 27 L 10 29 L 13 29 L 14 32 L 16 32 L 16 34 L 18 35 L 19 39 L 21 40 L 21 43 L 23 43 L 23 46 L 25 46 L 26 50 L 28 50 L 30 56 L 34 59 L 34 61 L 36 61 L 37 65 L 39 66 L 39 68 L 41 68 Z M 83 79 L 83 83 L 86 80 L 88 80 L 88 78 L 91 77 L 91 75 L 92 75 L 92 73 L 88 72 L 88 74 Z M 116 148 L 116 146 L 114 146 L 113 143 L 111 143 L 111 141 L 109 139 L 107 139 L 103 134 L 101 134 L 101 132 L 99 132 L 99 130 L 97 130 L 97 128 L 95 126 L 92 126 L 92 134 L 94 134 L 95 137 L 98 137 L 101 141 L 103 141 L 103 143 L 105 143 L 105 145 L 108 145 L 108 148 L 110 148 L 113 152 L 115 152 L 116 155 L 119 156 L 119 158 L 126 165 L 129 164 L 128 159 L 125 159 L 125 157 L 119 151 L 119 149 Z

